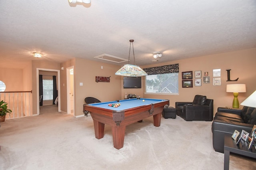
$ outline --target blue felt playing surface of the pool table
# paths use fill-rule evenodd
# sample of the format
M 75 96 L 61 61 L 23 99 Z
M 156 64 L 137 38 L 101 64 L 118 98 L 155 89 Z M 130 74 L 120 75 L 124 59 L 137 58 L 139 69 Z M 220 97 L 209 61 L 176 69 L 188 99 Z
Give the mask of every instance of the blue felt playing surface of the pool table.
M 143 100 L 144 100 L 144 102 L 143 102 Z M 118 110 L 130 109 L 130 108 L 133 108 L 133 107 L 140 107 L 140 106 L 145 106 L 145 105 L 150 105 L 150 104 L 156 104 L 158 102 L 163 102 L 163 101 L 166 101 L 166 100 L 147 99 L 147 98 L 140 98 L 140 99 L 133 98 L 133 99 L 126 99 L 126 100 L 119 100 L 119 102 L 117 102 L 115 100 L 115 101 L 110 101 L 110 102 L 101 102 L 101 103 L 94 103 L 94 104 L 88 104 L 88 105 L 118 111 Z M 108 104 L 117 104 L 117 103 L 120 104 L 119 107 L 108 106 Z

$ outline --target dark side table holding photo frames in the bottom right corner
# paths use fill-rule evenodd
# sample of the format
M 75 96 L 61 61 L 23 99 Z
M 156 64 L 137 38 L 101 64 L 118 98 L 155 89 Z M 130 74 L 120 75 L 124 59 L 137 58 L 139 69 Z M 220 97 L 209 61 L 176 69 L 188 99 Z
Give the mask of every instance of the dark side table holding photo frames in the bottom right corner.
M 232 139 L 232 135 L 225 135 L 224 138 L 224 170 L 229 169 L 229 156 L 230 152 L 248 156 L 251 158 L 256 158 L 255 147 L 252 147 L 251 150 L 248 149 L 249 144 L 242 140 L 242 143 L 239 142 L 239 145 L 236 145 L 236 141 Z

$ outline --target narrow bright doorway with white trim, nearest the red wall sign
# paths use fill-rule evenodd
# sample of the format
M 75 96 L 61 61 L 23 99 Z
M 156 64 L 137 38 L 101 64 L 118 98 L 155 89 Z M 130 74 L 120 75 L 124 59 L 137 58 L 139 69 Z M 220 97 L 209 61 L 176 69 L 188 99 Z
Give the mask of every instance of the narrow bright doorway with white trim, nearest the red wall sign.
M 74 115 L 74 66 L 66 68 L 67 75 L 67 113 Z

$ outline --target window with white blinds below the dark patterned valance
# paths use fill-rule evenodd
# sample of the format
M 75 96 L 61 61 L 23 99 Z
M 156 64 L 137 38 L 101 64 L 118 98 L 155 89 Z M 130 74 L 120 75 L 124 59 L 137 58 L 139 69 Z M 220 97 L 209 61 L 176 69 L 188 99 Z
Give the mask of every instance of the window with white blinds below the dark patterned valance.
M 146 93 L 178 94 L 178 72 L 146 76 Z

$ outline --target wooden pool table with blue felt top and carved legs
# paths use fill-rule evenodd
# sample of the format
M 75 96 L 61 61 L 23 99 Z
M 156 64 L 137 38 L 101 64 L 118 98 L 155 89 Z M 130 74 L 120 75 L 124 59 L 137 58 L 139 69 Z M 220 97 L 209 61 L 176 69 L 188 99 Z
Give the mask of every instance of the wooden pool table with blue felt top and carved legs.
M 110 107 L 108 104 L 119 103 L 119 107 Z M 126 125 L 141 122 L 142 119 L 153 116 L 154 126 L 161 123 L 162 110 L 169 105 L 169 100 L 134 98 L 116 100 L 94 104 L 84 104 L 84 111 L 89 111 L 94 123 L 95 137 L 104 137 L 105 124 L 112 127 L 114 148 L 124 146 L 124 133 Z

